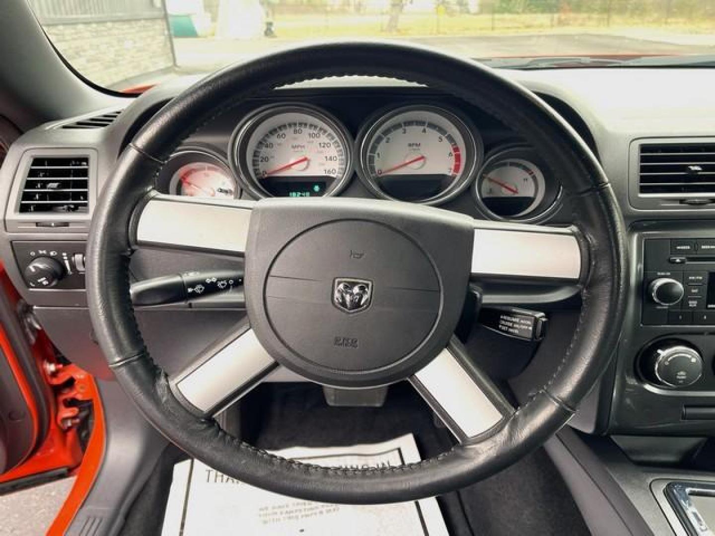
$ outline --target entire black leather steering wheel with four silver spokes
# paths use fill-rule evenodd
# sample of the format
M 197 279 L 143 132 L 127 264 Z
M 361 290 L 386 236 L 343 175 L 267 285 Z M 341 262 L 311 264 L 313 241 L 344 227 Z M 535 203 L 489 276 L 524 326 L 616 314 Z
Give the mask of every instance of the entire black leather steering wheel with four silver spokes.
M 372 199 L 226 201 L 154 189 L 177 145 L 231 106 L 286 84 L 347 75 L 424 84 L 495 116 L 533 144 L 561 179 L 573 226 L 484 222 Z M 473 61 L 415 46 L 303 46 L 208 76 L 139 131 L 94 210 L 89 312 L 117 381 L 189 455 L 251 485 L 307 500 L 415 500 L 493 475 L 566 424 L 618 339 L 623 237 L 616 200 L 591 151 L 522 86 Z M 247 321 L 171 376 L 154 364 L 134 319 L 128 268 L 140 247 L 245 258 Z M 492 279 L 576 284 L 581 292 L 568 351 L 521 407 L 453 337 L 470 282 Z M 347 389 L 406 379 L 453 432 L 455 447 L 423 462 L 369 470 L 317 467 L 257 450 L 212 416 L 278 364 Z

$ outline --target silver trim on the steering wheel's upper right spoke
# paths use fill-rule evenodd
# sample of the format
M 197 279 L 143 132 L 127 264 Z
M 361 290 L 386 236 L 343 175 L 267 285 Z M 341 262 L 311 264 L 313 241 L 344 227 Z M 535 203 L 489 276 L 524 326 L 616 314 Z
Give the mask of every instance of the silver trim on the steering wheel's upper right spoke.
M 472 274 L 578 281 L 581 248 L 569 229 L 523 224 L 485 225 L 474 229 Z

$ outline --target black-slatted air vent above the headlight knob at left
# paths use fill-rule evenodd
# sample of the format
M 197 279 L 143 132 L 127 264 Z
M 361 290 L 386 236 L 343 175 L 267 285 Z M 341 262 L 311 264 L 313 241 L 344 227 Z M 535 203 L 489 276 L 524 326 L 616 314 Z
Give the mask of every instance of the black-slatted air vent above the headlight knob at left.
M 20 200 L 20 212 L 87 213 L 89 157 L 34 157 Z

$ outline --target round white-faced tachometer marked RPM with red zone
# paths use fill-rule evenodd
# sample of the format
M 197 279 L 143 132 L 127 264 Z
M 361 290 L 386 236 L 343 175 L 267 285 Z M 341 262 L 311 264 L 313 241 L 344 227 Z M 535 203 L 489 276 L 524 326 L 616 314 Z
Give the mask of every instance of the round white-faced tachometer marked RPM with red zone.
M 358 139 L 360 178 L 378 196 L 400 201 L 437 204 L 455 197 L 483 157 L 476 129 L 438 106 L 390 111 Z

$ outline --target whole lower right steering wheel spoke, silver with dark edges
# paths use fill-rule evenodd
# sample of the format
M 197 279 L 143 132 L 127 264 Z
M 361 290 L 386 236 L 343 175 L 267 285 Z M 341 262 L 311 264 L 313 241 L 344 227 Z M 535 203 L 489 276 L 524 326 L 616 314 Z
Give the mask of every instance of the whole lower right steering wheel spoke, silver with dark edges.
M 416 372 L 410 383 L 460 442 L 485 434 L 514 412 L 454 340 Z

